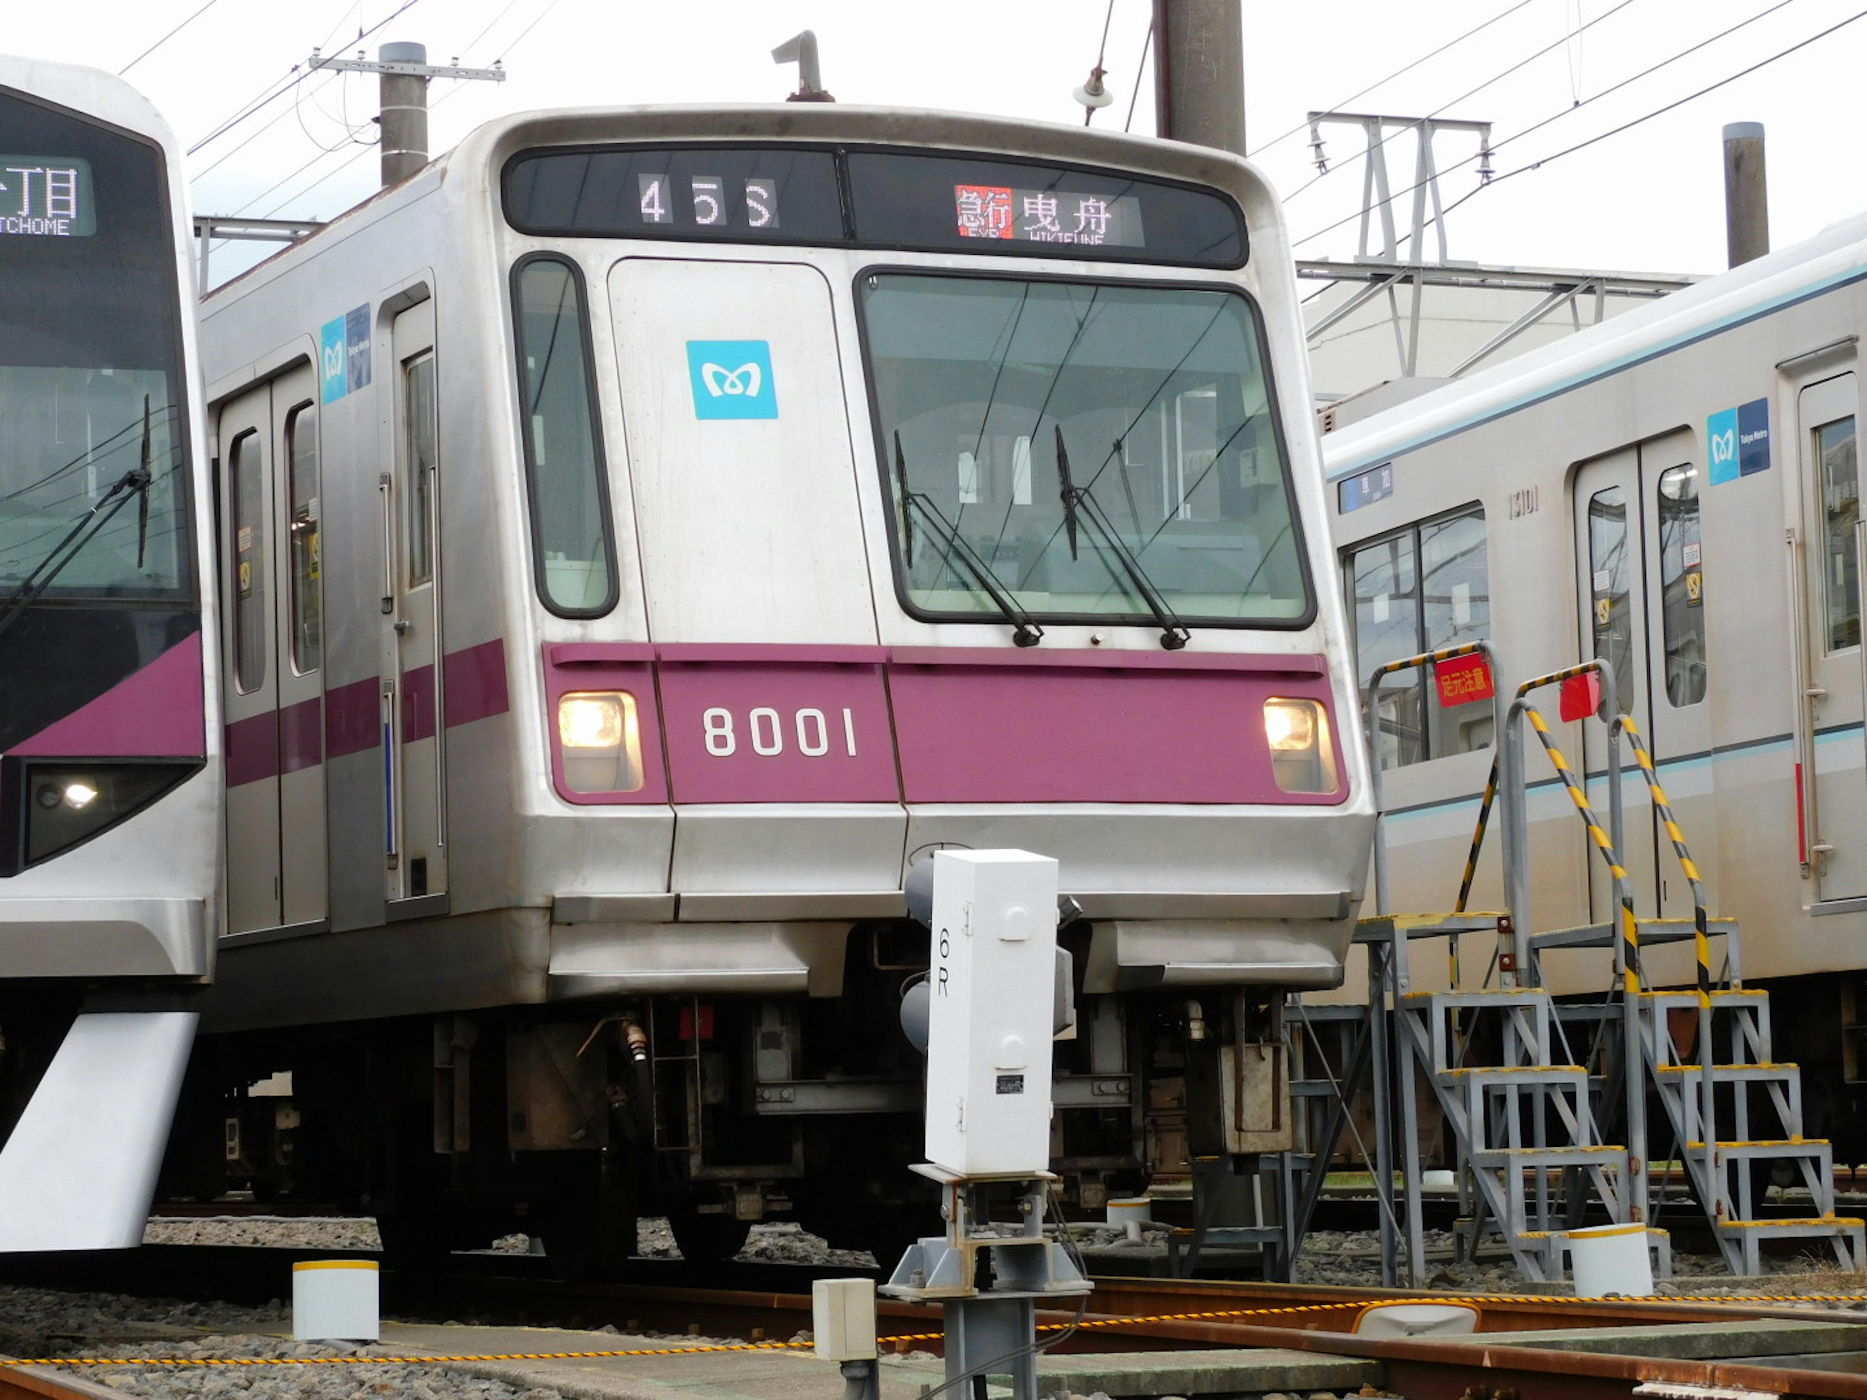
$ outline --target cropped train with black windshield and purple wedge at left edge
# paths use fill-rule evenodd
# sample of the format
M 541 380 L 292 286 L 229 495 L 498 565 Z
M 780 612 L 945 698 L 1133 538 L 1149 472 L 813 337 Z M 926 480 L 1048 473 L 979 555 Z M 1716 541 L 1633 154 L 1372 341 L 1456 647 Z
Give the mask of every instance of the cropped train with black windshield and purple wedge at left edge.
M 0 1251 L 142 1243 L 213 973 L 185 190 L 129 84 L 0 56 Z

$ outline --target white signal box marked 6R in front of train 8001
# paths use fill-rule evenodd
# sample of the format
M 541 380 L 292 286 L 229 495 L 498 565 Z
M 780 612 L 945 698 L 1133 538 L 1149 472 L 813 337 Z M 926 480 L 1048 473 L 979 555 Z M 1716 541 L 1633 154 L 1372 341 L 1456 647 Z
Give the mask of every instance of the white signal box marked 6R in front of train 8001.
M 1057 862 L 934 855 L 926 1154 L 960 1176 L 1049 1170 Z

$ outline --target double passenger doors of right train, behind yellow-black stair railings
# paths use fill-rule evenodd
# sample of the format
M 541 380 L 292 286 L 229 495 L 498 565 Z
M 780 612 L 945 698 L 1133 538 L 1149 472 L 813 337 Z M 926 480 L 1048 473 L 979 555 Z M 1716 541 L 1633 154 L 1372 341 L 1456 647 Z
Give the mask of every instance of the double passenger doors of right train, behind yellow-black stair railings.
M 1712 749 L 1705 704 L 1701 483 L 1692 433 L 1650 439 L 1585 463 L 1574 487 L 1576 558 L 1581 655 L 1604 657 L 1613 666 L 1619 694 L 1611 696 L 1611 709 L 1634 719 L 1660 767 L 1660 786 L 1693 862 L 1714 883 L 1712 769 L 1693 762 Z M 1607 823 L 1606 730 L 1593 721 L 1581 728 L 1589 801 Z M 1622 795 L 1622 864 L 1634 883 L 1635 913 L 1690 918 L 1692 889 L 1626 745 Z M 1615 900 L 1611 877 L 1598 859 L 1591 872 L 1593 917 L 1606 920 Z M 1675 971 L 1663 967 L 1667 976 Z

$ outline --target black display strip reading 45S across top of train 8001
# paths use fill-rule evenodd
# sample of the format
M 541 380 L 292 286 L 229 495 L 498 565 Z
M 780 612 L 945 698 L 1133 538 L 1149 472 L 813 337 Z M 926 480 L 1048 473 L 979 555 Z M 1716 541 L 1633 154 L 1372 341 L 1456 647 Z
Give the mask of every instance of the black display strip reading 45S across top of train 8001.
M 558 147 L 504 172 L 506 220 L 564 237 L 723 239 L 1240 267 L 1215 190 L 1079 166 L 900 149 Z

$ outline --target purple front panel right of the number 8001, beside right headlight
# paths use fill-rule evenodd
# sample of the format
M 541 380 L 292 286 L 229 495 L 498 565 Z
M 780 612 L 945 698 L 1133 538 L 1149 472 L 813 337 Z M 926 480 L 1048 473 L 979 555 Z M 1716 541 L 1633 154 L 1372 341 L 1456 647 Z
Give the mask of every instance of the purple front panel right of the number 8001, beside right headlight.
M 1283 791 L 1264 741 L 1264 700 L 1327 706 L 1320 676 L 891 665 L 889 694 L 909 803 L 1346 797 Z

